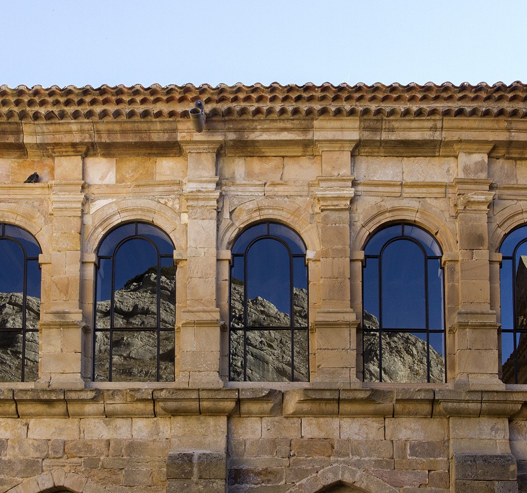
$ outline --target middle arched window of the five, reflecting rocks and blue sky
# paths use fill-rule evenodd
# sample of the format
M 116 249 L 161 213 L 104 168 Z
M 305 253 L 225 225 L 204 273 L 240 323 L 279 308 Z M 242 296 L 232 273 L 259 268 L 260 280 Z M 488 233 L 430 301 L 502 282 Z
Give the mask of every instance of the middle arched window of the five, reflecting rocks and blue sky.
M 309 380 L 306 247 L 277 223 L 249 227 L 232 247 L 230 380 Z

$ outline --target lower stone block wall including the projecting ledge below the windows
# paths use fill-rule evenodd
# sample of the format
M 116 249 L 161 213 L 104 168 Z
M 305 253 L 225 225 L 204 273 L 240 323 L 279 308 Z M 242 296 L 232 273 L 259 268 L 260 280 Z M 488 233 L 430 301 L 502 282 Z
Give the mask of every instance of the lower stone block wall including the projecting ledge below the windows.
M 525 397 L 431 389 L 4 392 L 0 491 L 517 492 L 525 421 L 511 422 L 509 447 L 508 418 L 522 415 Z

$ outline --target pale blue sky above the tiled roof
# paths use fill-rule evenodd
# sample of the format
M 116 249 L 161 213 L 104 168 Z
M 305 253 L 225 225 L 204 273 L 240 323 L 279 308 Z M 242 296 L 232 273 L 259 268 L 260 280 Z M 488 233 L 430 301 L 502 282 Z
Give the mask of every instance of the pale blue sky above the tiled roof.
M 0 84 L 527 82 L 527 1 L 0 0 Z

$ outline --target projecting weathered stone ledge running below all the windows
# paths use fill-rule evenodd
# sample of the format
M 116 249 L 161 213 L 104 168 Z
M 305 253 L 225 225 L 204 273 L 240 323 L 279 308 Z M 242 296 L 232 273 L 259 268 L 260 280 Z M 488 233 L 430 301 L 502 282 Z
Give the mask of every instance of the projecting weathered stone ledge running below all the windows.
M 111 385 L 111 384 L 107 384 Z M 86 418 L 237 415 L 288 417 L 524 417 L 527 390 L 153 388 L 0 389 L 0 417 Z M 382 388 L 381 388 L 382 387 Z M 524 418 L 522 418 L 524 419 Z

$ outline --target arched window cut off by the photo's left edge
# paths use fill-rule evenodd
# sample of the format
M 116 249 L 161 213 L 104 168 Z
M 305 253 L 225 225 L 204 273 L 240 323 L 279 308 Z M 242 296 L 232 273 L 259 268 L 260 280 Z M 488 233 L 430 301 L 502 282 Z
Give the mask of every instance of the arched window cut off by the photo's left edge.
M 41 270 L 37 240 L 0 223 L 0 381 L 38 378 Z

